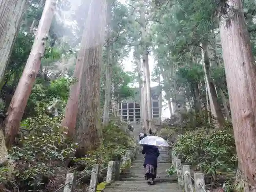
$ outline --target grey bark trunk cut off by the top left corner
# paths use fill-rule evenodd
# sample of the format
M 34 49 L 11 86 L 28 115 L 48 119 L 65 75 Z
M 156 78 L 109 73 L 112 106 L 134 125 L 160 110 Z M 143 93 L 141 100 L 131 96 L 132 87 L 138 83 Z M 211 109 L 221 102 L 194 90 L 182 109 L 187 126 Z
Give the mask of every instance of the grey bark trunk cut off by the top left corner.
M 0 84 L 18 35 L 28 0 L 0 1 Z

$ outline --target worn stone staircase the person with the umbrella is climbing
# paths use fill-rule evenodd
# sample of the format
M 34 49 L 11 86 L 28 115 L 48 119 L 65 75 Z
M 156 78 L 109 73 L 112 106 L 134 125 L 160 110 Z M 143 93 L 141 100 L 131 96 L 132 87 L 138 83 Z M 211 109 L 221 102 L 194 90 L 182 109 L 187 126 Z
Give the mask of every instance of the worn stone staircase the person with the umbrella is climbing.
M 115 181 L 104 189 L 104 192 L 182 192 L 178 188 L 176 176 L 167 177 L 165 170 L 170 167 L 171 160 L 167 148 L 159 148 L 157 178 L 155 185 L 149 185 L 144 179 L 144 155 L 137 154 L 131 168 L 120 175 L 121 181 Z

